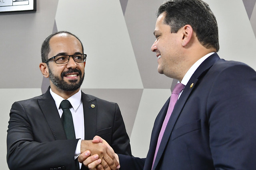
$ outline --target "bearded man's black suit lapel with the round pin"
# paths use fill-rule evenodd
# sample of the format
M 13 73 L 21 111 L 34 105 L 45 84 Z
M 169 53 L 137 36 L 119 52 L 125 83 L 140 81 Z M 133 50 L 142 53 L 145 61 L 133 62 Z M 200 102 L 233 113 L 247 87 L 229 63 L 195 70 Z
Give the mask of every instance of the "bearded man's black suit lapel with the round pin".
M 82 92 L 84 107 L 84 139 L 91 140 L 96 134 L 97 101 Z

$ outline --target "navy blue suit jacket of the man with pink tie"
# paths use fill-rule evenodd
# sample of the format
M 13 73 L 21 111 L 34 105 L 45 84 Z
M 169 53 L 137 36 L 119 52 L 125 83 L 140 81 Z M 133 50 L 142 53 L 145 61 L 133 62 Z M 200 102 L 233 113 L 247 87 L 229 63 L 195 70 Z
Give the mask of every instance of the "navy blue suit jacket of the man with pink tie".
M 156 117 L 146 160 L 119 154 L 121 170 L 151 170 L 169 101 Z M 214 53 L 177 101 L 153 170 L 255 170 L 255 160 L 256 72 Z

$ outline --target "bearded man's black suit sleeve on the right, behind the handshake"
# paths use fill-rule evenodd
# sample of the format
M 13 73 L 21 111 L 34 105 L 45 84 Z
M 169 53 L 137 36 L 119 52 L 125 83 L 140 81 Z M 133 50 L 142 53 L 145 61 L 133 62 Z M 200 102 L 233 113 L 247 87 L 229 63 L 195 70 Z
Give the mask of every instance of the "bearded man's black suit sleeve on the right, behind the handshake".
M 118 104 L 116 104 L 111 147 L 118 154 L 125 154 L 125 155 L 132 156 L 130 139 L 126 133 L 124 120 L 122 118 L 121 111 L 119 109 Z

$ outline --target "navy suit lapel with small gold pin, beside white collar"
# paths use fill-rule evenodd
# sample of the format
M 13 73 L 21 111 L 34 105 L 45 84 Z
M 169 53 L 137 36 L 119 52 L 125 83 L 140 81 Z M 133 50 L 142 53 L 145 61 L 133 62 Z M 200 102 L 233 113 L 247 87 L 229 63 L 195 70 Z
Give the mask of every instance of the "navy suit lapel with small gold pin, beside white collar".
M 174 128 L 174 125 L 182 111 L 182 108 L 184 107 L 184 104 L 186 103 L 186 100 L 189 98 L 190 93 L 194 89 L 194 87 L 197 85 L 198 80 L 204 76 L 204 74 L 210 69 L 210 67 L 220 58 L 218 57 L 217 53 L 214 53 L 210 57 L 208 57 L 200 66 L 196 69 L 194 74 L 191 76 L 190 80 L 188 81 L 188 84 L 185 86 L 180 98 L 175 104 L 175 107 L 172 111 L 172 115 L 168 121 L 168 124 L 166 126 L 166 129 L 164 131 L 164 135 L 160 144 L 160 147 L 158 149 L 158 153 L 156 156 L 156 160 L 154 163 L 153 169 L 156 168 L 160 158 L 162 157 L 162 154 L 164 152 L 164 149 L 166 147 L 166 144 L 168 143 L 168 140 L 170 139 L 170 135 L 172 133 L 172 130 Z M 190 85 L 194 84 L 191 88 Z M 166 113 L 165 113 L 166 114 Z M 162 126 L 162 124 L 161 124 Z M 159 134 L 159 133 L 158 133 Z M 158 137 L 157 137 L 158 138 Z

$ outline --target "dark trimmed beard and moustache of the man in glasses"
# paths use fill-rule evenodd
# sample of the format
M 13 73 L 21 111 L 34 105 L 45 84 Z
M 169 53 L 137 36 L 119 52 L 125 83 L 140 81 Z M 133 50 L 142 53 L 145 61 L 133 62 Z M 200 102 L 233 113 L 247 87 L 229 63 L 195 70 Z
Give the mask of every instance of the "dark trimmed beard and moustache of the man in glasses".
M 59 89 L 63 90 L 63 91 L 75 91 L 77 90 L 78 88 L 81 87 L 83 81 L 84 81 L 84 75 L 82 76 L 82 72 L 78 69 L 70 69 L 66 72 L 62 72 L 61 73 L 61 79 L 58 77 L 58 76 L 55 76 L 52 71 L 50 70 L 50 68 L 48 67 L 48 70 L 49 70 L 49 78 L 51 80 L 51 82 L 56 86 L 58 87 Z M 63 77 L 65 74 L 68 74 L 68 73 L 72 73 L 72 72 L 78 72 L 79 73 L 79 76 L 80 76 L 80 81 L 77 82 L 78 80 L 69 80 L 70 83 L 67 83 L 63 80 Z

